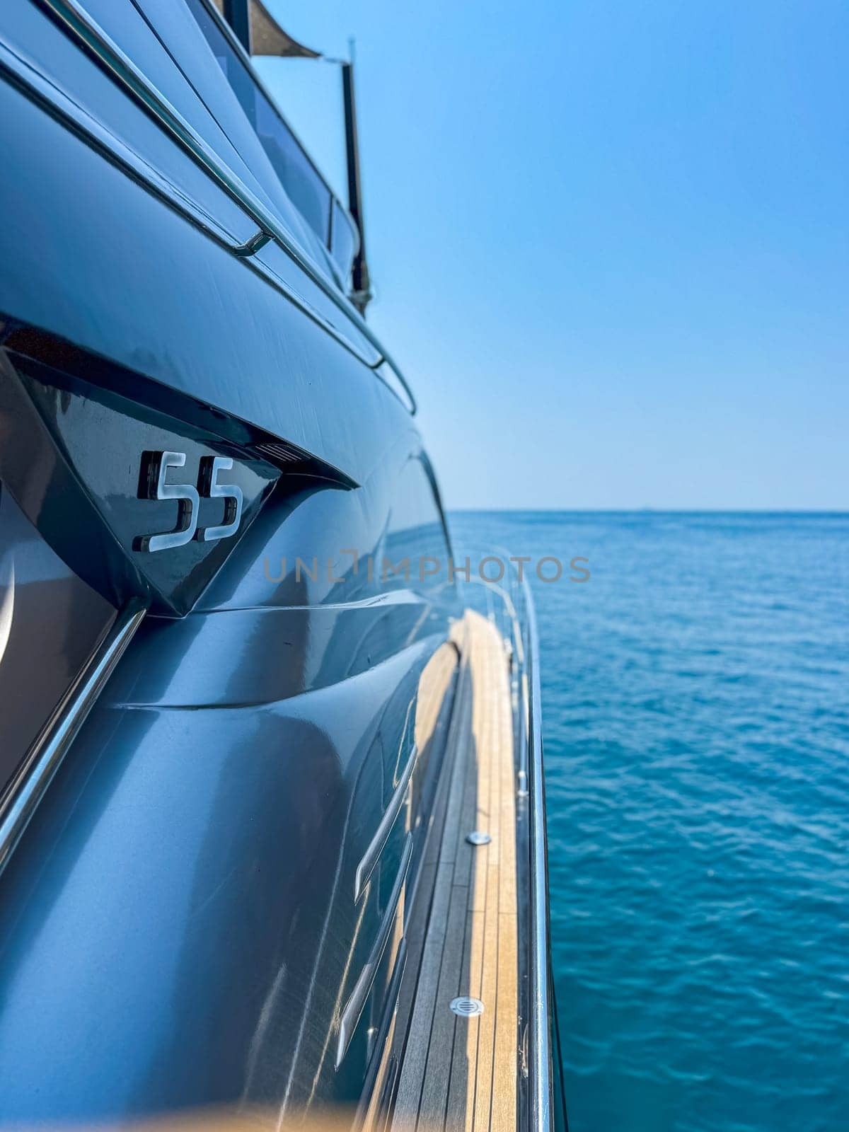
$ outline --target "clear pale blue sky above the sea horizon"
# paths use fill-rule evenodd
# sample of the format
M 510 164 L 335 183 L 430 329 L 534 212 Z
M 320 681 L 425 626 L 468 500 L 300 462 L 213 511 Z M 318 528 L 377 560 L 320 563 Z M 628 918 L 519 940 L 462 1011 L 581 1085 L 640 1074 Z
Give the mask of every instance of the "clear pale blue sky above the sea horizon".
M 846 0 L 266 2 L 449 507 L 849 507 Z

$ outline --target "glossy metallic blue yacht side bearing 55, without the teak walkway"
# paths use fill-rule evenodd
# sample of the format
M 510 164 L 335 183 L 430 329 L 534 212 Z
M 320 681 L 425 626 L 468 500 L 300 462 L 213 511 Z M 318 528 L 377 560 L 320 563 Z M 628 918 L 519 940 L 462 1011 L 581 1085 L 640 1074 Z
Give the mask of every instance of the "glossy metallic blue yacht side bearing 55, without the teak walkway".
M 456 680 L 438 495 L 77 7 L 0 17 L 0 1121 L 353 1110 Z

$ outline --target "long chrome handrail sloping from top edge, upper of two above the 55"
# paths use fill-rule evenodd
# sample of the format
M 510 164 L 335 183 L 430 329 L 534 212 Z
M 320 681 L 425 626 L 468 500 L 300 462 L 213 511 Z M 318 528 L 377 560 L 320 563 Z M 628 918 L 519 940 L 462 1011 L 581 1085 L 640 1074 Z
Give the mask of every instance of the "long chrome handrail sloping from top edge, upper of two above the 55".
M 100 24 L 79 6 L 78 0 L 38 0 L 59 19 L 77 41 L 101 62 L 112 77 L 138 102 L 174 140 L 182 146 L 189 156 L 204 169 L 209 177 L 254 220 L 265 235 L 286 251 L 298 266 L 310 276 L 321 291 L 344 314 L 363 337 L 375 348 L 380 359 L 372 369 L 387 362 L 404 385 L 410 387 L 401 375 L 401 370 L 386 352 L 372 329 L 360 314 L 349 303 L 320 272 L 309 256 L 301 250 L 294 237 L 286 231 L 277 217 L 263 204 L 247 185 L 226 165 L 199 134 L 186 121 L 168 98 L 142 74 L 128 55 L 103 31 Z M 413 402 L 414 403 L 414 402 Z

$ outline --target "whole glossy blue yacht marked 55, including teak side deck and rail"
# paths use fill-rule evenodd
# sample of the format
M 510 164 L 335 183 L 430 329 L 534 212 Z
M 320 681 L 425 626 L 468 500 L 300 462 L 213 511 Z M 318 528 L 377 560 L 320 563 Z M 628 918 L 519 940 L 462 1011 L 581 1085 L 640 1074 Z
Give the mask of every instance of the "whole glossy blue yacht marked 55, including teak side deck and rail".
M 563 1126 L 540 674 L 258 0 L 0 11 L 0 1127 Z M 487 548 L 489 549 L 489 548 Z

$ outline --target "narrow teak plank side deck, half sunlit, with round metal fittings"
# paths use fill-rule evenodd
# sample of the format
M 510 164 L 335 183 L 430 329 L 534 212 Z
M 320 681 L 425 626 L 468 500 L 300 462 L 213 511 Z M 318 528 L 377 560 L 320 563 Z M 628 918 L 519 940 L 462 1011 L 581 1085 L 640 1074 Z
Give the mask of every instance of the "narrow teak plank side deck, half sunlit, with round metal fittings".
M 427 925 L 410 925 L 421 954 L 394 1126 L 506 1132 L 516 1126 L 518 1061 L 516 826 L 507 658 L 486 618 L 463 620 L 463 664 L 449 736 L 443 837 Z M 453 748 L 453 751 L 452 751 Z M 478 830 L 491 841 L 471 846 Z M 479 998 L 462 1018 L 449 1003 Z

